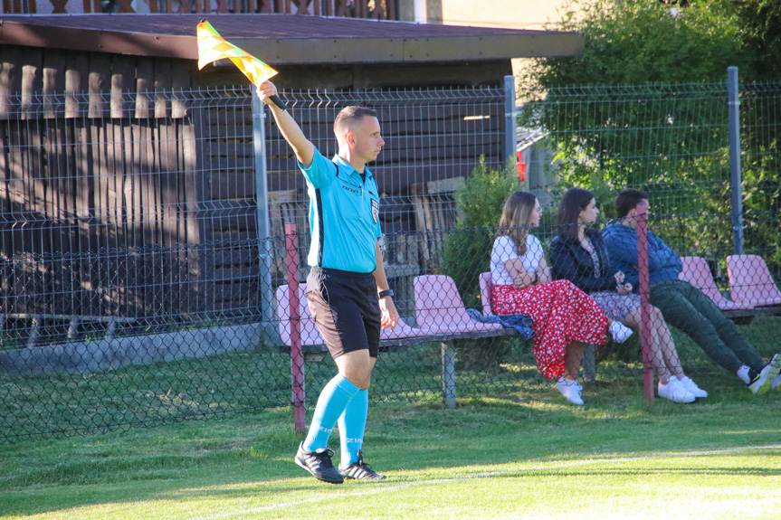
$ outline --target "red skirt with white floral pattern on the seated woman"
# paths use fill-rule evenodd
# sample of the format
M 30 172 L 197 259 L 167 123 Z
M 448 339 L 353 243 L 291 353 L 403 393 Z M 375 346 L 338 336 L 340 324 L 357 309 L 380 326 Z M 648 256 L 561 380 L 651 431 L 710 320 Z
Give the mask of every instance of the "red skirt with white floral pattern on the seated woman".
M 605 313 L 593 298 L 569 280 L 559 279 L 528 288 L 495 285 L 491 298 L 495 314 L 525 314 L 532 318 L 532 353 L 539 372 L 548 379 L 564 375 L 567 345 L 576 341 L 605 344 Z

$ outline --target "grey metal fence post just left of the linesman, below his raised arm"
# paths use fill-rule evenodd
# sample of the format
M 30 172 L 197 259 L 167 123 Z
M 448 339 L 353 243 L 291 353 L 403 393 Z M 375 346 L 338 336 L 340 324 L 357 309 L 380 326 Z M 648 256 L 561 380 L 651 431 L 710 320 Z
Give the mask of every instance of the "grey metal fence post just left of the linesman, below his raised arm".
M 265 106 L 252 90 L 252 147 L 255 157 L 255 199 L 258 219 L 258 260 L 263 340 L 266 345 L 282 345 L 279 327 L 274 319 L 273 288 L 271 288 L 271 221 L 269 219 L 269 185 L 266 175 Z

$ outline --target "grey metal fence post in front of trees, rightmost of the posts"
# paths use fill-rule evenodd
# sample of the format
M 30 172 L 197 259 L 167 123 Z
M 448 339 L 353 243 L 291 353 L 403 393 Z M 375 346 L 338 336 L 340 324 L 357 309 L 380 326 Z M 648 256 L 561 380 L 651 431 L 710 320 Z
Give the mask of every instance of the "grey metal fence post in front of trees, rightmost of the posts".
M 732 251 L 743 254 L 743 190 L 740 175 L 740 101 L 738 67 L 727 69 L 729 93 L 729 192 L 732 202 Z

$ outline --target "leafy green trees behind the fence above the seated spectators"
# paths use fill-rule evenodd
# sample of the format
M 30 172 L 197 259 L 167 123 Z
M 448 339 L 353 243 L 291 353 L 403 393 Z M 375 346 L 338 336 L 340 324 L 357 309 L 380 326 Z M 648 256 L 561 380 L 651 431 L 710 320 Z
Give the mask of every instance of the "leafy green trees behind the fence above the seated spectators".
M 678 222 L 668 235 L 681 252 L 731 250 L 722 85 L 738 66 L 746 245 L 777 254 L 781 97 L 749 82 L 781 79 L 781 2 L 572 0 L 566 11 L 548 28 L 582 32 L 584 53 L 535 61 L 519 118 L 548 130 L 561 186 L 592 189 L 605 209 L 616 190 L 645 189 Z

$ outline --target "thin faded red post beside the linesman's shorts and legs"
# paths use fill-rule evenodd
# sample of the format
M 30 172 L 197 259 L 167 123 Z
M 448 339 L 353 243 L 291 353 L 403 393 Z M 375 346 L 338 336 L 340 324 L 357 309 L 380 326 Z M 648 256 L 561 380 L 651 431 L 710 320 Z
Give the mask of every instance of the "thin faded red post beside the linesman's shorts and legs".
M 299 239 L 296 224 L 285 224 L 285 250 L 288 265 L 288 299 L 290 302 L 290 373 L 293 390 L 293 423 L 297 435 L 304 435 L 307 412 L 304 408 L 304 358 L 301 355 L 301 317 L 299 312 Z M 278 302 L 282 305 L 282 302 Z

